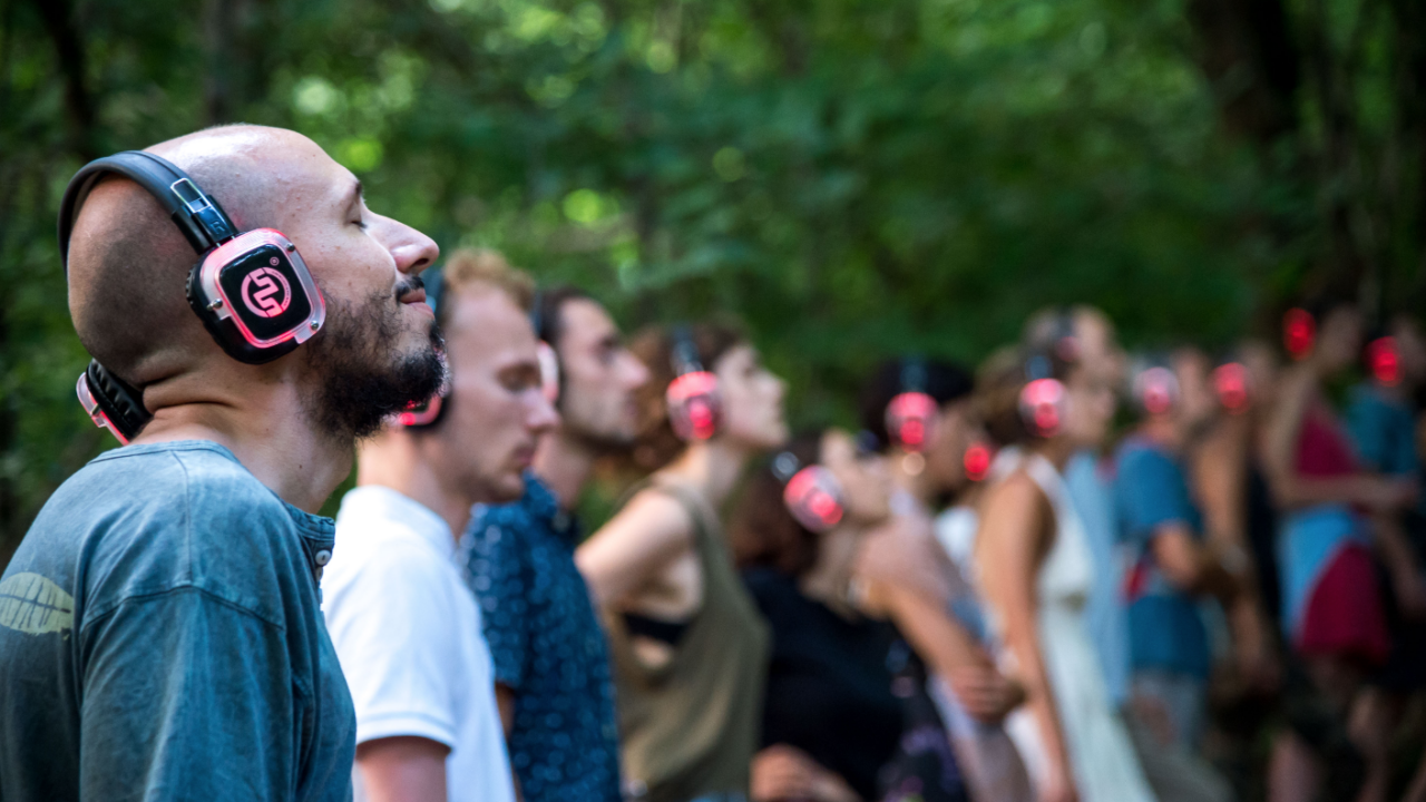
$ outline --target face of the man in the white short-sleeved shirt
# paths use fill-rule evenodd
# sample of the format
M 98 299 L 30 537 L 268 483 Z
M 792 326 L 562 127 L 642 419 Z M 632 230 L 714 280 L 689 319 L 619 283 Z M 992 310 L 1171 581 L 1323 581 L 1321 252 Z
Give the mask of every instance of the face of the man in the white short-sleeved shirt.
M 445 471 L 476 501 L 515 501 L 539 437 L 559 422 L 540 387 L 535 331 L 493 287 L 451 293 L 446 303 L 451 395 L 432 437 Z

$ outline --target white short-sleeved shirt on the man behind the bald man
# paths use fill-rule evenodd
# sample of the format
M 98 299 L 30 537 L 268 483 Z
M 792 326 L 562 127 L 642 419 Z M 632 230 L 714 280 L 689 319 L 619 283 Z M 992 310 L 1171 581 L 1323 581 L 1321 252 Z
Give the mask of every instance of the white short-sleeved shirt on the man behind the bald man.
M 385 487 L 342 498 L 322 612 L 356 708 L 356 743 L 409 735 L 451 748 L 451 802 L 513 802 L 481 612 L 451 527 Z M 356 799 L 365 799 L 354 769 Z

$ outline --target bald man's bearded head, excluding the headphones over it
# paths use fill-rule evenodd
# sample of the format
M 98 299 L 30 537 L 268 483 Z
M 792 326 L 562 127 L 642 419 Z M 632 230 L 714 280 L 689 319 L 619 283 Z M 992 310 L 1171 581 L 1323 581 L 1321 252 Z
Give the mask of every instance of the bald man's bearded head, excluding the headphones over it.
M 334 434 L 372 431 L 386 412 L 435 391 L 439 335 L 416 274 L 439 251 L 419 231 L 371 213 L 361 183 L 317 143 L 281 128 L 225 126 L 147 150 L 188 173 L 238 231 L 287 234 L 327 298 L 328 325 L 298 361 L 288 355 L 260 368 L 227 357 L 185 298 L 198 254 L 157 200 L 107 176 L 78 210 L 68 248 L 70 313 L 100 364 L 140 388 L 194 372 L 275 377 L 299 367 L 299 380 L 319 385 L 308 394 L 309 412 Z M 321 401 L 334 397 L 344 404 Z M 147 394 L 144 402 L 154 411 Z

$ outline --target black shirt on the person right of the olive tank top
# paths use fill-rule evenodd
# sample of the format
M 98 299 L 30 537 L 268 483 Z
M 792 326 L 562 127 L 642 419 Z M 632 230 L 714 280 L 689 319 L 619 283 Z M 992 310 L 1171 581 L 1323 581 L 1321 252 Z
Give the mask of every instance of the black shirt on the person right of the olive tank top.
M 904 702 L 891 686 L 896 628 L 843 618 L 770 568 L 744 571 L 743 582 L 773 629 L 763 746 L 796 746 L 876 799 L 877 775 L 904 729 Z

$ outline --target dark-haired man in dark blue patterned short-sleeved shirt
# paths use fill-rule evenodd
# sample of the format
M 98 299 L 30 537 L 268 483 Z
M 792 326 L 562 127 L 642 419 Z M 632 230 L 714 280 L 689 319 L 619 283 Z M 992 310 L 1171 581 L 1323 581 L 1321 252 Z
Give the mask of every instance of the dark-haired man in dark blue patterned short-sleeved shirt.
M 562 424 L 542 440 L 519 502 L 476 505 L 462 542 L 468 579 L 523 799 L 619 802 L 609 651 L 575 568 L 573 507 L 595 460 L 633 442 L 633 394 L 649 371 L 579 290 L 542 293 L 530 317 L 556 357 Z

